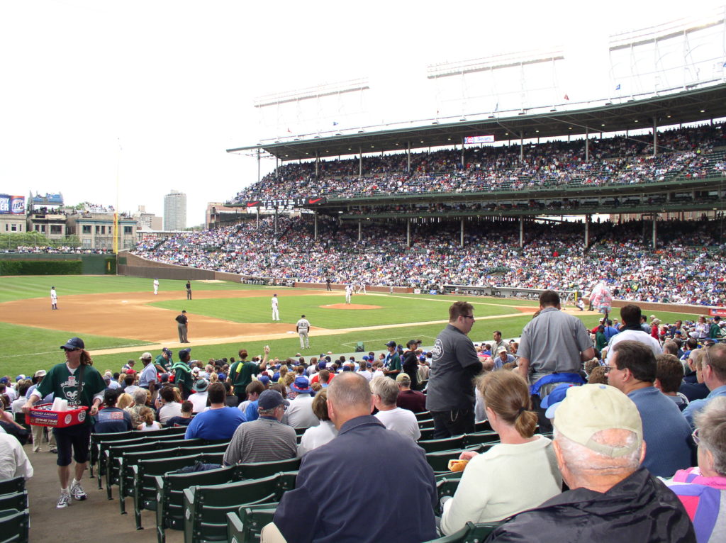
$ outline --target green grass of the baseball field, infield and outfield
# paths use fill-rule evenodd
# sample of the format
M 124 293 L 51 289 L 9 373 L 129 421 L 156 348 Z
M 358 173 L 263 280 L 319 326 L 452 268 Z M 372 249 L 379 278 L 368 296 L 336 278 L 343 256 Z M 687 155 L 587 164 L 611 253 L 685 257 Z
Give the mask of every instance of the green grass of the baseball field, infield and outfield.
M 113 292 L 150 292 L 150 279 L 115 276 L 54 276 L 54 277 L 1 277 L 0 302 L 37 298 L 48 295 L 50 286 L 54 285 L 62 301 L 63 295 L 94 294 Z M 203 283 L 192 282 L 192 290 L 259 290 L 264 287 L 256 285 L 240 285 L 233 282 Z M 162 280 L 161 290 L 179 290 L 184 292 L 184 281 Z M 187 311 L 192 314 L 203 314 L 209 317 L 229 319 L 235 322 L 271 322 L 270 298 L 272 290 L 267 288 L 269 295 L 259 298 L 216 298 L 209 300 L 192 300 L 185 302 Z M 354 303 L 382 306 L 383 309 L 349 311 L 323 309 L 319 306 L 330 303 L 343 303 L 344 296 L 321 296 L 314 290 L 306 296 L 285 296 L 288 289 L 280 287 L 276 290 L 280 298 L 280 317 L 282 322 L 294 324 L 301 314 L 306 314 L 314 326 L 328 329 L 348 327 L 367 327 L 386 324 L 405 324 L 407 322 L 428 322 L 444 320 L 449 305 L 453 301 L 466 299 L 473 303 L 474 314 L 478 321 L 474 324 L 470 338 L 476 343 L 492 339 L 494 330 L 502 330 L 505 338 L 515 338 L 521 334 L 522 328 L 531 320 L 531 315 L 483 319 L 486 316 L 497 316 L 515 313 L 512 306 L 536 306 L 533 301 L 510 300 L 503 298 L 478 298 L 463 296 L 435 295 L 354 295 Z M 178 309 L 179 301 L 156 302 L 155 305 Z M 674 322 L 676 319 L 691 319 L 688 314 L 658 311 L 658 318 L 663 322 Z M 613 312 L 619 317 L 619 311 Z M 583 316 L 582 321 L 588 328 L 597 324 L 597 315 Z M 320 353 L 348 353 L 354 351 L 356 343 L 362 341 L 366 351 L 382 351 L 389 340 L 406 343 L 409 339 L 421 339 L 424 346 L 433 345 L 436 335 L 444 328 L 444 324 L 425 324 L 421 326 L 391 327 L 383 330 L 366 330 L 362 332 L 345 332 L 335 335 L 316 335 L 311 332 L 311 348 L 302 351 L 306 357 Z M 109 330 L 112 328 L 109 327 Z M 63 361 L 59 346 L 65 343 L 73 332 L 73 321 L 68 322 L 68 331 L 46 330 L 43 328 L 25 327 L 16 324 L 0 323 L 0 340 L 3 345 L 0 351 L 0 375 L 15 377 L 20 373 L 32 374 L 40 368 L 48 369 L 53 364 Z M 87 348 L 119 348 L 138 346 L 137 350 L 123 354 L 98 354 L 94 361 L 99 370 L 118 371 L 129 358 L 138 359 L 147 343 L 139 340 L 113 338 L 107 336 L 84 335 Z M 218 343 L 210 346 L 194 346 L 192 337 L 192 358 L 208 360 L 237 356 L 237 351 L 244 347 L 250 353 L 261 354 L 264 345 L 272 348 L 272 356 L 285 359 L 300 351 L 297 335 L 274 341 L 248 341 L 244 343 Z M 158 354 L 158 349 L 152 350 Z M 176 357 L 175 357 L 176 358 Z

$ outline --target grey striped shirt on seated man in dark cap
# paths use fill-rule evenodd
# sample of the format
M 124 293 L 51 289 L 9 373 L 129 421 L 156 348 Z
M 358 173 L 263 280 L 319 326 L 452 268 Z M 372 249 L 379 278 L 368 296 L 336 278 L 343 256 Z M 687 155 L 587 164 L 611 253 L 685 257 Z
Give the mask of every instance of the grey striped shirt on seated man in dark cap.
M 297 455 L 295 430 L 277 419 L 260 417 L 242 422 L 234 431 L 224 453 L 224 465 L 287 460 Z

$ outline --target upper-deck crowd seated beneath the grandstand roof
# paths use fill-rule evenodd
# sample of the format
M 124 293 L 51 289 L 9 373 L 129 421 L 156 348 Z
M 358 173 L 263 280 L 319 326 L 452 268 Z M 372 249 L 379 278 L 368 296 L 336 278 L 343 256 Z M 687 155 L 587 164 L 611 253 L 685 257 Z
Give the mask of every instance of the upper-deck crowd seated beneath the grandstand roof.
M 235 202 L 310 195 L 357 197 L 430 192 L 532 190 L 567 185 L 600 186 L 701 178 L 724 171 L 724 125 L 680 128 L 652 136 L 592 139 L 588 144 L 548 142 L 502 147 L 440 150 L 407 155 L 290 163 L 237 193 Z M 462 165 L 463 163 L 463 165 Z M 316 173 L 317 172 L 317 173 Z

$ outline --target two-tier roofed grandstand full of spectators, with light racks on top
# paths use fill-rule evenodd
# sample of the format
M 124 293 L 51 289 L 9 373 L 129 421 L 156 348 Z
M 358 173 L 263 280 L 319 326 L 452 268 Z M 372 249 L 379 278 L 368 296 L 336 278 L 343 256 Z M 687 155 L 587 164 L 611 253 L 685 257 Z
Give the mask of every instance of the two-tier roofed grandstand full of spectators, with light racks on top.
M 720 31 L 683 24 L 691 38 Z M 611 36 L 613 74 L 644 36 L 673 37 L 665 27 Z M 510 54 L 431 65 L 428 77 L 561 60 L 557 52 Z M 497 102 L 486 113 L 229 149 L 277 165 L 226 203 L 247 213 L 204 232 L 144 240 L 134 252 L 285 284 L 582 292 L 605 280 L 618 298 L 722 305 L 726 83 L 703 73 L 658 88 L 665 72 L 656 69 L 638 79 L 654 90 L 627 96 L 509 109 Z M 328 94 L 367 89 L 353 83 Z M 256 107 L 311 97 L 280 94 Z

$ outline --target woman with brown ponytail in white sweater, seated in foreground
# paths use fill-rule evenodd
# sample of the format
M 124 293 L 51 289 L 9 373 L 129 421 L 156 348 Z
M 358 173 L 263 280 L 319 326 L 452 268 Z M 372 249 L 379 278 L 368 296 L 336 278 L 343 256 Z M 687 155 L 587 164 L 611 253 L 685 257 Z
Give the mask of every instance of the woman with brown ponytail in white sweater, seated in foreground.
M 494 522 L 537 507 L 562 491 L 552 441 L 535 436 L 537 414 L 530 411 L 529 387 L 515 372 L 497 370 L 478 380 L 486 415 L 501 444 L 484 454 L 462 452 L 469 460 L 454 497 L 443 505 L 445 535 L 473 523 Z

